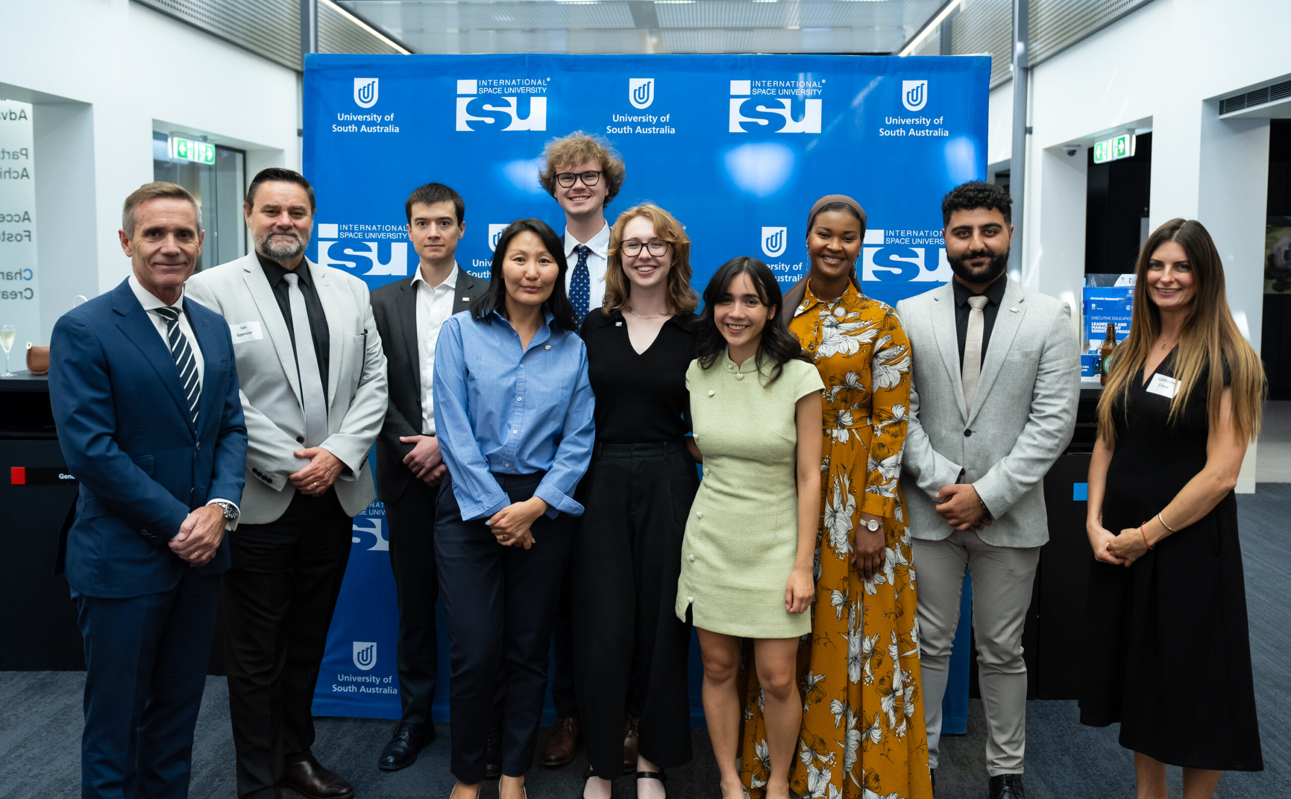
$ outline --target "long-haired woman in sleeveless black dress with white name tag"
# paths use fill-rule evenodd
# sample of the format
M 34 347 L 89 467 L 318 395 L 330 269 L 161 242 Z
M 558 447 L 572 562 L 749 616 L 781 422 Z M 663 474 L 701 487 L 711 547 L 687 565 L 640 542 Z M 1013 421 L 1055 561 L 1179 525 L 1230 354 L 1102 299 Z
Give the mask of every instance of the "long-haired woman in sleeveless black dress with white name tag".
M 1208 799 L 1220 772 L 1264 768 L 1233 496 L 1264 369 L 1199 222 L 1161 226 L 1135 274 L 1090 462 L 1081 723 L 1121 723 L 1140 799 L 1166 799 L 1166 764 Z

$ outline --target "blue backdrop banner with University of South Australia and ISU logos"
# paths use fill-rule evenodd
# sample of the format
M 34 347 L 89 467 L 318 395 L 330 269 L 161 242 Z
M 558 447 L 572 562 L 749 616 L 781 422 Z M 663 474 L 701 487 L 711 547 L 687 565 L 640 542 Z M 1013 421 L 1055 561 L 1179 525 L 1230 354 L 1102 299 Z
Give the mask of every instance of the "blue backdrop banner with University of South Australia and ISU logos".
M 697 290 L 736 256 L 797 280 L 808 267 L 807 212 L 846 194 L 869 217 L 864 289 L 895 303 L 950 278 L 940 204 L 985 177 L 989 76 L 988 57 L 307 56 L 309 257 L 373 288 L 411 275 L 404 200 L 435 181 L 466 201 L 457 263 L 488 278 L 513 219 L 563 232 L 538 185 L 542 148 L 584 130 L 627 168 L 607 218 L 647 200 L 671 212 L 693 243 Z M 374 503 L 355 519 L 320 715 L 399 715 L 385 541 Z

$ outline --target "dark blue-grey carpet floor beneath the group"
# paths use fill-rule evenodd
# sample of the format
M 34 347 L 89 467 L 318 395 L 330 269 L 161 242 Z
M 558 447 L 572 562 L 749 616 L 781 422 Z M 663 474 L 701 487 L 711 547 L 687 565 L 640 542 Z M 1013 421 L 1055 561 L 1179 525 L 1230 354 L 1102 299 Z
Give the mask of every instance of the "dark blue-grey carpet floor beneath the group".
M 1260 711 L 1265 771 L 1224 774 L 1216 796 L 1291 796 L 1291 484 L 1263 483 L 1255 494 L 1238 497 L 1246 591 L 1251 622 L 1251 654 Z M 80 793 L 81 689 L 84 674 L 59 671 L 0 673 L 0 798 L 75 796 Z M 227 720 L 227 688 L 222 678 L 208 678 L 196 745 L 190 795 L 234 799 L 234 746 Z M 1029 799 L 1128 799 L 1133 796 L 1133 760 L 1117 743 L 1115 728 L 1093 729 L 1078 722 L 1074 701 L 1032 701 L 1026 709 L 1026 791 Z M 314 753 L 325 765 L 354 782 L 359 799 L 447 799 L 453 785 L 448 773 L 448 728 L 412 767 L 383 773 L 376 759 L 390 723 L 365 719 L 320 719 Z M 540 742 L 546 737 L 544 731 Z M 710 799 L 718 795 L 717 767 L 707 736 L 693 733 L 695 759 L 671 772 L 674 798 Z M 968 733 L 942 741 L 937 769 L 939 799 L 982 799 L 985 720 L 981 702 L 970 706 Z M 556 769 L 538 765 L 529 772 L 533 799 L 577 799 L 580 756 Z M 1170 769 L 1171 795 L 1179 796 L 1180 772 Z M 618 780 L 616 799 L 634 795 L 631 780 Z M 290 791 L 285 793 L 296 799 Z M 488 787 L 484 799 L 494 799 Z

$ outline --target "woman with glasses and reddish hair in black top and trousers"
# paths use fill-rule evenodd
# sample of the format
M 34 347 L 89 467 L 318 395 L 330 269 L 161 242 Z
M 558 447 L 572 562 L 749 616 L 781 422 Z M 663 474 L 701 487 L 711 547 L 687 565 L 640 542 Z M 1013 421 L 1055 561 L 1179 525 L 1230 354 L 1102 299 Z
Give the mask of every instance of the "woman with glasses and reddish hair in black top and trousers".
M 625 771 L 636 773 L 640 799 L 662 799 L 662 769 L 691 759 L 691 627 L 673 613 L 698 488 L 687 438 L 686 369 L 698 305 L 689 254 L 686 231 L 662 208 L 624 212 L 609 232 L 604 307 L 582 323 L 596 444 L 578 487 L 586 510 L 574 532 L 571 589 L 591 765 L 586 799 L 609 799 L 609 781 Z

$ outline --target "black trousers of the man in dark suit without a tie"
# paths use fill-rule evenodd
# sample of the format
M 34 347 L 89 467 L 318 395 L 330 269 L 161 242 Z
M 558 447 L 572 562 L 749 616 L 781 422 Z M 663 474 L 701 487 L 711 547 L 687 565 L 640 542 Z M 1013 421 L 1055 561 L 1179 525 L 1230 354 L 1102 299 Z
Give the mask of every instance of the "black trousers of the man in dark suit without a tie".
M 435 600 L 435 505 L 439 487 L 418 479 L 408 483 L 396 502 L 386 502 L 390 525 L 390 571 L 399 600 L 399 698 L 403 722 L 430 724 L 435 701 L 438 660 Z

